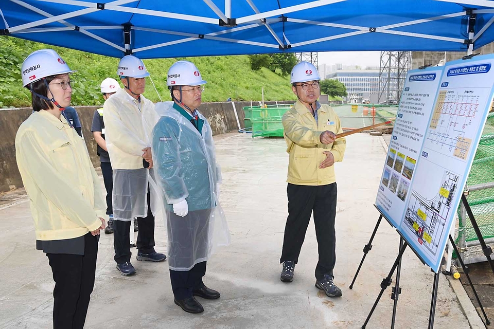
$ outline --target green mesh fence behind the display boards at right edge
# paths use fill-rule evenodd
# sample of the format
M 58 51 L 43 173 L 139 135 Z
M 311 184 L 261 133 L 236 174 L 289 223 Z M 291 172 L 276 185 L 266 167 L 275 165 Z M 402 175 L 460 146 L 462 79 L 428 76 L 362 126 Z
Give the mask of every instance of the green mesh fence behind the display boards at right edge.
M 490 113 L 482 132 L 479 148 L 475 153 L 472 169 L 467 179 L 467 186 L 494 182 L 494 113 Z M 468 204 L 479 225 L 484 239 L 494 237 L 494 188 L 470 191 Z M 468 215 L 462 215 L 458 207 L 460 230 L 465 241 L 478 240 Z M 457 238 L 458 240 L 458 238 Z

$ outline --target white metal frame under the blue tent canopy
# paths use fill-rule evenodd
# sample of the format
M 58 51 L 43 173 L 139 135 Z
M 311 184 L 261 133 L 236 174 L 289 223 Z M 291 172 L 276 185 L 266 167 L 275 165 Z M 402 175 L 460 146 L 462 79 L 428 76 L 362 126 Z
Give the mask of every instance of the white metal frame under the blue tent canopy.
M 301 5 L 290 6 L 290 7 L 276 9 L 276 10 L 270 10 L 270 11 L 266 11 L 266 12 L 260 12 L 258 10 L 258 8 L 254 5 L 252 0 L 245 0 L 249 4 L 249 6 L 252 8 L 252 10 L 254 11 L 254 14 L 239 17 L 237 19 L 231 17 L 231 12 L 232 12 L 231 0 L 225 0 L 225 12 L 224 13 L 216 6 L 215 3 L 213 3 L 212 0 L 203 0 L 203 2 L 211 9 L 211 13 L 214 13 L 215 15 L 217 15 L 218 18 L 206 17 L 206 16 L 196 16 L 196 15 L 186 15 L 186 14 L 179 14 L 179 13 L 172 13 L 172 12 L 156 11 L 156 10 L 140 9 L 140 8 L 123 6 L 123 5 L 127 5 L 130 3 L 134 3 L 137 0 L 115 0 L 115 1 L 112 1 L 112 2 L 109 2 L 106 4 L 91 3 L 91 2 L 85 2 L 85 1 L 79 1 L 79 0 L 34 0 L 34 1 L 40 2 L 40 3 L 64 4 L 64 5 L 73 5 L 73 6 L 78 7 L 77 10 L 74 10 L 72 12 L 59 14 L 59 15 L 52 15 L 52 14 L 45 12 L 44 10 L 41 10 L 40 8 L 35 7 L 33 5 L 30 5 L 30 4 L 28 4 L 22 0 L 8 0 L 8 1 L 13 2 L 17 5 L 23 6 L 24 8 L 29 9 L 33 12 L 36 12 L 42 16 L 45 16 L 46 18 L 35 21 L 35 22 L 17 25 L 17 26 L 9 26 L 7 21 L 5 20 L 5 17 L 3 15 L 1 9 L 0 9 L 0 15 L 2 16 L 2 19 L 4 20 L 5 26 L 7 28 L 6 31 L 4 32 L 4 34 L 58 32 L 58 31 L 74 30 L 74 31 L 83 33 L 83 34 L 89 36 L 90 38 L 98 40 L 101 43 L 104 43 L 104 44 L 109 45 L 115 49 L 118 49 L 122 52 L 125 52 L 127 54 L 145 51 L 145 50 L 150 50 L 150 49 L 155 49 L 155 48 L 168 47 L 168 46 L 176 45 L 176 44 L 180 44 L 180 43 L 188 43 L 188 42 L 192 42 L 192 41 L 198 41 L 201 39 L 217 40 L 217 41 L 231 42 L 231 43 L 237 43 L 237 44 L 246 44 L 246 45 L 253 45 L 253 46 L 259 46 L 259 47 L 270 48 L 270 49 L 279 49 L 279 50 L 295 48 L 295 49 L 291 50 L 293 52 L 293 51 L 296 51 L 297 47 L 302 47 L 305 45 L 312 45 L 312 44 L 330 41 L 330 40 L 337 40 L 337 39 L 341 39 L 341 38 L 348 38 L 350 36 L 361 35 L 361 34 L 365 34 L 365 33 L 386 33 L 386 34 L 395 34 L 395 35 L 402 35 L 402 36 L 411 36 L 413 38 L 419 38 L 419 39 L 432 39 L 432 40 L 438 40 L 438 41 L 454 42 L 454 43 L 459 43 L 459 44 L 468 44 L 468 53 L 470 54 L 473 51 L 474 42 L 477 41 L 478 38 L 487 30 L 487 28 L 490 27 L 494 23 L 494 17 L 492 17 L 489 21 L 487 21 L 484 24 L 484 26 L 477 33 L 474 33 L 474 31 L 471 28 L 469 28 L 469 30 L 468 30 L 469 39 L 468 40 L 460 39 L 460 38 L 449 38 L 446 36 L 433 35 L 433 34 L 403 32 L 403 31 L 395 30 L 396 28 L 399 28 L 399 27 L 411 26 L 411 25 L 416 25 L 416 24 L 421 24 L 421 23 L 426 23 L 426 22 L 431 22 L 431 21 L 437 21 L 437 20 L 444 20 L 444 19 L 449 19 L 449 18 L 457 17 L 457 16 L 470 15 L 470 20 L 472 20 L 472 17 L 474 17 L 475 14 L 494 13 L 494 4 L 492 1 L 488 1 L 488 0 L 460 0 L 460 1 L 458 1 L 458 0 L 435 0 L 438 2 L 460 3 L 460 4 L 465 4 L 465 5 L 482 6 L 482 7 L 493 8 L 493 9 L 460 11 L 460 12 L 454 12 L 454 13 L 440 15 L 440 16 L 428 17 L 426 19 L 412 20 L 412 21 L 408 21 L 408 22 L 402 22 L 399 24 L 392 24 L 392 25 L 385 25 L 385 26 L 358 26 L 358 25 L 335 24 L 335 23 L 328 23 L 328 22 L 299 20 L 299 19 L 294 19 L 294 18 L 283 16 L 285 14 L 292 13 L 292 12 L 295 12 L 298 10 L 317 8 L 317 7 L 326 6 L 326 5 L 330 5 L 330 4 L 345 2 L 347 0 L 317 0 L 317 1 L 312 1 L 312 2 L 305 3 L 305 4 L 301 4 Z M 80 9 L 81 7 L 83 9 Z M 224 29 L 221 31 L 211 32 L 211 33 L 207 33 L 207 34 L 201 34 L 201 33 L 196 34 L 196 33 L 186 33 L 186 32 L 179 32 L 179 31 L 170 31 L 170 30 L 150 29 L 150 28 L 138 27 L 138 26 L 130 26 L 130 30 L 129 30 L 129 28 L 127 28 L 127 30 L 126 30 L 125 24 L 122 26 L 115 26 L 115 25 L 109 25 L 109 26 L 76 26 L 74 24 L 67 22 L 68 19 L 82 16 L 85 14 L 94 13 L 94 12 L 97 12 L 100 10 L 111 10 L 111 11 L 143 14 L 143 15 L 149 15 L 149 16 L 166 17 L 169 19 L 176 19 L 176 20 L 182 20 L 182 21 L 201 22 L 201 23 L 219 25 L 219 26 L 224 27 Z M 273 16 L 279 16 L 279 15 L 281 15 L 281 17 L 273 18 Z M 473 20 L 474 20 L 474 18 L 473 18 Z M 43 25 L 47 25 L 47 24 L 55 23 L 55 22 L 58 22 L 58 23 L 64 25 L 65 27 L 45 27 L 45 28 L 42 27 Z M 296 24 L 327 26 L 327 27 L 331 27 L 331 28 L 341 28 L 341 29 L 355 30 L 355 31 L 330 35 L 330 36 L 326 36 L 324 38 L 305 40 L 305 41 L 296 42 L 296 43 L 292 44 L 288 41 L 284 32 L 283 32 L 283 40 L 282 40 L 282 38 L 280 38 L 280 36 L 274 31 L 272 24 L 276 24 L 278 22 L 290 22 L 290 23 L 296 23 Z M 227 34 L 227 33 L 257 28 L 259 26 L 266 27 L 266 29 L 269 31 L 269 33 L 271 34 L 271 36 L 273 38 L 273 41 L 274 41 L 273 43 L 255 42 L 255 41 L 251 41 L 251 40 L 241 40 L 241 39 L 236 39 L 236 38 L 226 38 L 225 36 L 223 36 L 224 34 Z M 117 44 L 115 44 L 109 40 L 101 38 L 100 36 L 90 32 L 90 30 L 103 30 L 103 29 L 121 29 L 122 35 L 124 36 L 123 39 L 125 40 L 125 46 L 121 47 L 120 45 L 117 45 Z M 164 34 L 169 34 L 169 35 L 184 36 L 185 38 L 132 49 L 131 44 L 130 44 L 130 40 L 132 40 L 130 33 L 132 30 L 134 30 L 134 31 L 151 31 L 151 32 L 164 33 Z M 126 35 L 126 33 L 127 33 L 127 35 Z

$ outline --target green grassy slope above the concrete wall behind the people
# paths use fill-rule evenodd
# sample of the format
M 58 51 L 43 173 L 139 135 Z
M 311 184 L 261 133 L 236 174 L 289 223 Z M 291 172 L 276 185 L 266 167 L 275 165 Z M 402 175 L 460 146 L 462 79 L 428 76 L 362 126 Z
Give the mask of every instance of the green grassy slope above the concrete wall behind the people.
M 104 78 L 117 79 L 118 59 L 82 52 L 78 50 L 51 47 L 40 43 L 24 41 L 13 37 L 0 38 L 0 107 L 30 106 L 28 90 L 22 88 L 21 65 L 34 50 L 53 48 L 67 62 L 74 74 L 73 105 L 98 105 L 102 103 L 99 84 Z M 183 59 L 183 58 L 180 58 Z M 163 100 L 170 100 L 166 86 L 168 68 L 180 59 L 145 60 L 147 69 Z M 292 100 L 289 77 L 280 77 L 266 68 L 253 71 L 246 56 L 215 56 L 187 58 L 195 63 L 204 80 L 208 81 L 203 94 L 204 102 L 232 100 L 261 100 L 264 87 L 265 100 Z M 147 98 L 159 101 L 151 80 L 147 79 Z

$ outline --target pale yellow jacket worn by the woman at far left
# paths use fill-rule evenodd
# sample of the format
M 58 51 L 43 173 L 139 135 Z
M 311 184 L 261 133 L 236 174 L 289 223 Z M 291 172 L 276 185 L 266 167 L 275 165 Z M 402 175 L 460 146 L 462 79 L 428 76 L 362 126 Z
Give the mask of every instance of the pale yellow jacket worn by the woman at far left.
M 108 217 L 86 145 L 63 116 L 31 114 L 15 136 L 15 157 L 37 240 L 79 237 Z

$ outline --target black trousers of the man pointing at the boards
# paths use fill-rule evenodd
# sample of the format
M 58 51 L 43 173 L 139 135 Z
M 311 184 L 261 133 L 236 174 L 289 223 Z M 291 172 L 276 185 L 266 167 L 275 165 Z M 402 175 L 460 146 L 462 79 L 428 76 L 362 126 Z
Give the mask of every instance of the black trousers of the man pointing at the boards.
M 337 193 L 336 182 L 322 186 L 288 184 L 288 218 L 280 263 L 293 261 L 296 264 L 298 262 L 298 255 L 304 243 L 310 215 L 313 212 L 319 249 L 315 278 L 321 280 L 325 274 L 333 277 L 333 268 L 336 263 L 334 218 L 336 217 Z

